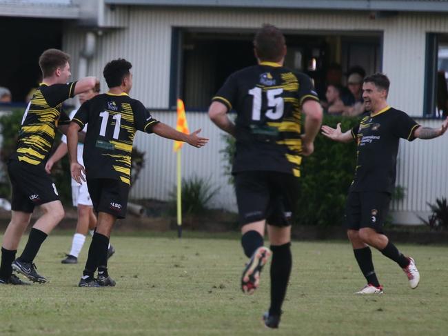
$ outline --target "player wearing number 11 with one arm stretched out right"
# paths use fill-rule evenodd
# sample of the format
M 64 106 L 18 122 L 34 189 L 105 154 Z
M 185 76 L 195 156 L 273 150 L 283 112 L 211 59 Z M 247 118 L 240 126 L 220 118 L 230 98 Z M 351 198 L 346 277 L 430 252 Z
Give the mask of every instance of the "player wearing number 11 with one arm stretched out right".
M 86 179 L 98 224 L 90 244 L 80 287 L 115 286 L 108 275 L 108 244 L 117 218 L 125 218 L 130 188 L 131 151 L 137 130 L 202 147 L 208 139 L 174 130 L 154 119 L 143 103 L 129 97 L 132 65 L 125 59 L 106 64 L 103 75 L 109 92 L 85 101 L 72 119 L 67 133 L 72 177 Z M 88 123 L 84 141 L 85 170 L 77 161 L 78 132 Z M 98 277 L 94 273 L 98 269 Z

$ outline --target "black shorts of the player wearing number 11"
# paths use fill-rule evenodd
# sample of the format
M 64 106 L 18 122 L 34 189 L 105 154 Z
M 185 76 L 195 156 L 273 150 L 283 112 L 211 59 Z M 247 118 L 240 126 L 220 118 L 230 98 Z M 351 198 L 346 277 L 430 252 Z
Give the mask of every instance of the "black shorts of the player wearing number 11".
M 87 179 L 90 198 L 97 213 L 125 218 L 128 208 L 129 184 L 118 179 Z

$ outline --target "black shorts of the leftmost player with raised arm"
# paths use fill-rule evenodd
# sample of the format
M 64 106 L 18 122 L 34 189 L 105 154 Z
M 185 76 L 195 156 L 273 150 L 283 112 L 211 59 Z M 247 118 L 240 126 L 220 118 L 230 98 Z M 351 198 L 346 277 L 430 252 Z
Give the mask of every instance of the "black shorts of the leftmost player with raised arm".
M 12 186 L 12 210 L 32 213 L 34 206 L 59 201 L 56 186 L 41 164 L 34 166 L 23 161 L 10 160 L 8 175 Z

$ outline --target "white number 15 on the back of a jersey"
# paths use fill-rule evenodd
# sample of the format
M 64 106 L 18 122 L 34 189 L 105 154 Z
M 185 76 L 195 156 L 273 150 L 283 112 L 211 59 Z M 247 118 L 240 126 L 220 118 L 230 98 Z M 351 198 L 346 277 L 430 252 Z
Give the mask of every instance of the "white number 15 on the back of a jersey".
M 283 117 L 283 98 L 279 97 L 283 93 L 283 88 L 267 89 L 267 107 L 265 116 L 271 120 L 278 120 Z M 263 90 L 255 87 L 249 90 L 249 95 L 253 96 L 252 100 L 252 120 L 261 120 L 261 102 Z

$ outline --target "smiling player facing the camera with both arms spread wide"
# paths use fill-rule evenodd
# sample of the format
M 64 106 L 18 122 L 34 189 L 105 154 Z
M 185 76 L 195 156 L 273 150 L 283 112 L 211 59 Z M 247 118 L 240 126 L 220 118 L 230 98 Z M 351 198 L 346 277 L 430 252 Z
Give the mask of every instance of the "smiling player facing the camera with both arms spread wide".
M 352 130 L 342 132 L 322 126 L 322 133 L 339 142 L 356 141 L 358 159 L 346 206 L 347 235 L 352 243 L 359 268 L 367 280 L 356 294 L 381 294 L 380 285 L 371 257 L 372 246 L 395 261 L 409 279 L 412 289 L 417 288 L 420 273 L 411 257 L 406 257 L 383 233 L 391 192 L 396 179 L 396 158 L 400 138 L 413 141 L 439 137 L 448 127 L 448 119 L 440 128 L 418 125 L 405 112 L 387 105 L 389 79 L 376 73 L 364 79 L 363 99 L 368 112 Z

